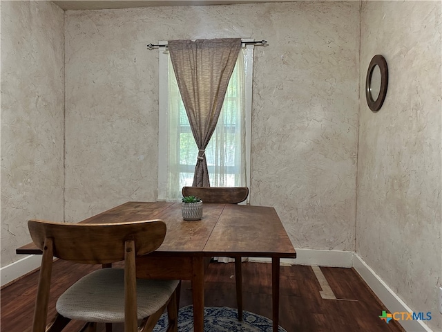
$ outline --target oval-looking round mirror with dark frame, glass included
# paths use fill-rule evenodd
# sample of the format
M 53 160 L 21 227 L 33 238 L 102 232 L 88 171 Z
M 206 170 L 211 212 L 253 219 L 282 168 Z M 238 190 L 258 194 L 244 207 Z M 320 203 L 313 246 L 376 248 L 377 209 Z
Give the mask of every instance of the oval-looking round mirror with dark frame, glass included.
M 381 109 L 387 95 L 388 68 L 382 55 L 375 55 L 368 66 L 365 81 L 365 97 L 368 107 L 376 112 Z

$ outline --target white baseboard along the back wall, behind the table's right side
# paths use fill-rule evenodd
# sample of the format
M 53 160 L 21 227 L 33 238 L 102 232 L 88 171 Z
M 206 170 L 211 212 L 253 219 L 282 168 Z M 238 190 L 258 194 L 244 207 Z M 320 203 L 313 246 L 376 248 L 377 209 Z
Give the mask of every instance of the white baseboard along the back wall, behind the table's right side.
M 283 258 L 281 265 L 317 265 L 334 268 L 351 268 L 352 251 L 296 249 L 296 259 Z M 249 261 L 270 262 L 270 258 L 249 257 Z

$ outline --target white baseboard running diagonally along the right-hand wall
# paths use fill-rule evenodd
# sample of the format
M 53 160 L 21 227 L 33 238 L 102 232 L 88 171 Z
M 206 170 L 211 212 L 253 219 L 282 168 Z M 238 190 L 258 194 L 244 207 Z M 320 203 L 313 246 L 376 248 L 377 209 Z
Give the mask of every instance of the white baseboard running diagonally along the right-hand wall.
M 390 313 L 407 312 L 411 313 L 412 309 L 405 304 L 396 295 L 392 289 L 383 282 L 383 280 L 374 273 L 365 261 L 358 254 L 354 253 L 353 267 L 359 275 L 364 279 L 369 288 L 376 294 Z M 381 315 L 381 313 L 379 313 Z M 405 331 L 412 332 L 432 332 L 432 330 L 421 320 L 401 320 L 398 322 Z

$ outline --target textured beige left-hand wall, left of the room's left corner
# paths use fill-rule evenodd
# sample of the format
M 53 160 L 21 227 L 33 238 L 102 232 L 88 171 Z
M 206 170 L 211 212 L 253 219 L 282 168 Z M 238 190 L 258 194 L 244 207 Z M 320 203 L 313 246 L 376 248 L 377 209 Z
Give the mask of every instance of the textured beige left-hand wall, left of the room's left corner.
M 63 220 L 63 26 L 50 1 L 1 1 L 1 266 L 28 219 Z

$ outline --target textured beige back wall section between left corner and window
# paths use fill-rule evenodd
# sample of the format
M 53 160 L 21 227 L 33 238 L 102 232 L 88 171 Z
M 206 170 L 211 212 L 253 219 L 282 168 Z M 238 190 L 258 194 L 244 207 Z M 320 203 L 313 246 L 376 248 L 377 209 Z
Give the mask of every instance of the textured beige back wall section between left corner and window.
M 66 221 L 156 199 L 158 61 L 137 16 L 66 15 Z

